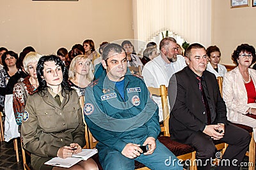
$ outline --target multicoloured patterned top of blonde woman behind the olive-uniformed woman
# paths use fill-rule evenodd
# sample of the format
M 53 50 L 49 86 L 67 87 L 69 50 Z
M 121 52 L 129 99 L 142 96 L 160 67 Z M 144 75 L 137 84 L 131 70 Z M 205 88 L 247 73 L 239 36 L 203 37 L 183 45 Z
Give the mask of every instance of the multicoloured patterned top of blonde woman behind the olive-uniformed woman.
M 36 92 L 35 87 L 29 81 L 27 76 L 23 81 L 16 83 L 13 89 L 13 111 L 17 125 L 21 125 L 26 100 L 29 95 Z

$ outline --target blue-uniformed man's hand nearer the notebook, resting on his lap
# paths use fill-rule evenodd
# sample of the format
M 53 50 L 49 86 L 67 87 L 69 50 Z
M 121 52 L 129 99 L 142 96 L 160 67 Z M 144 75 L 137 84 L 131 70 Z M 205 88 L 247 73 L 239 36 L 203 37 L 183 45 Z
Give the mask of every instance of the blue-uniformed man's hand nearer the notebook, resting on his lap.
M 129 159 L 140 157 L 140 153 L 142 153 L 142 150 L 139 146 L 140 145 L 128 143 L 127 145 L 125 145 L 121 153 Z

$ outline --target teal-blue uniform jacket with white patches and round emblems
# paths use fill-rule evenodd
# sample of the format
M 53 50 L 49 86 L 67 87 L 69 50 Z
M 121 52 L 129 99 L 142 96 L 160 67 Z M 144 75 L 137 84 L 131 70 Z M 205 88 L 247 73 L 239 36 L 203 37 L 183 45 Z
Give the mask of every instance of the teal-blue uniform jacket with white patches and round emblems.
M 97 148 L 122 152 L 127 143 L 142 145 L 146 138 L 157 139 L 161 131 L 157 104 L 152 101 L 141 78 L 125 75 L 124 96 L 108 76 L 100 76 L 85 92 L 84 119 Z

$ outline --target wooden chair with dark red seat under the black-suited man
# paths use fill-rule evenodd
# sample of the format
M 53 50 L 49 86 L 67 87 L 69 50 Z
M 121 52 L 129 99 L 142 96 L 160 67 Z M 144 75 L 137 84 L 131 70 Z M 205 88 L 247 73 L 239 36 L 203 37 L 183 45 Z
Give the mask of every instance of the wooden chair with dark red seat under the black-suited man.
M 195 160 L 195 149 L 189 145 L 178 143 L 173 141 L 170 138 L 169 132 L 169 106 L 168 106 L 168 90 L 165 85 L 161 85 L 160 88 L 148 87 L 148 90 L 151 95 L 161 97 L 161 103 L 163 107 L 163 126 L 161 127 L 161 132 L 163 132 L 164 136 L 159 136 L 159 141 L 163 143 L 174 155 L 177 156 L 178 159 L 181 160 L 190 160 L 192 162 L 190 169 L 194 170 L 196 167 L 193 165 Z

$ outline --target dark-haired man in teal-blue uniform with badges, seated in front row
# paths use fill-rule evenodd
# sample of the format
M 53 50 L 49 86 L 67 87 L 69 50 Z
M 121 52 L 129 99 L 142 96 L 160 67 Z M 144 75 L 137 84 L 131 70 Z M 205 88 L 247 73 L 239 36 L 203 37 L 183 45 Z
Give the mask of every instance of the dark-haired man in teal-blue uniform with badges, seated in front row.
M 84 118 L 99 141 L 103 169 L 134 169 L 134 160 L 150 169 L 182 169 L 168 148 L 157 140 L 160 132 L 157 104 L 143 80 L 126 74 L 124 48 L 107 45 L 102 52 L 107 74 L 86 88 Z M 140 146 L 147 146 L 143 153 Z M 172 164 L 165 164 L 172 160 Z

